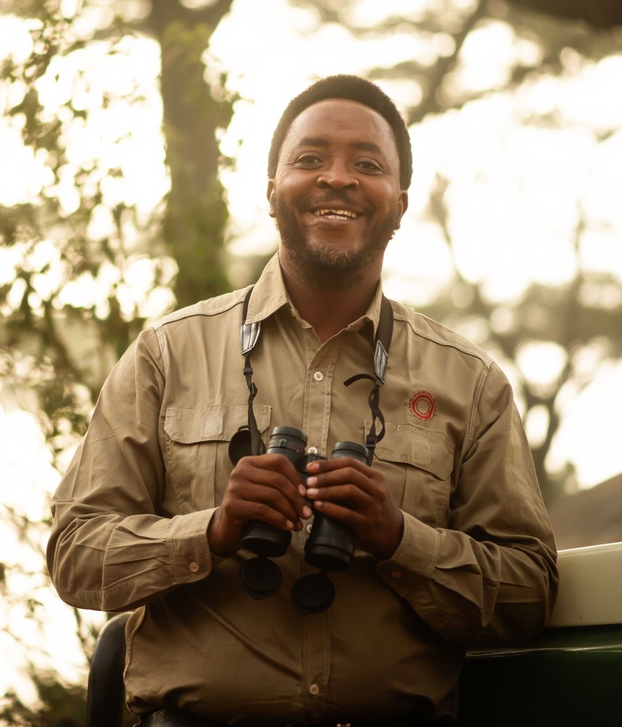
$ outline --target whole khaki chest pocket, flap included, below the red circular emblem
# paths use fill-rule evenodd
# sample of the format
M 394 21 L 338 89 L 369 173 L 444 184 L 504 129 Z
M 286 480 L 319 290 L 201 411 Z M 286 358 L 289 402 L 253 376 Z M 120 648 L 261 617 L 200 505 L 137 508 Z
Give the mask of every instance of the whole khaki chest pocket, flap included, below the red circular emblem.
M 370 426 L 371 422 L 365 422 L 365 432 Z M 453 450 L 453 442 L 441 432 L 386 422 L 374 467 L 384 473 L 396 504 L 405 513 L 433 527 L 445 526 Z

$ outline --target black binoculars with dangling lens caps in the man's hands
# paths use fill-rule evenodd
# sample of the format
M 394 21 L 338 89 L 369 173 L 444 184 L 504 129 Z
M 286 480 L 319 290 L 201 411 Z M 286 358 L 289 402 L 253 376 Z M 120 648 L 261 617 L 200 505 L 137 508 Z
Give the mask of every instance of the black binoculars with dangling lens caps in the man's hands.
M 283 454 L 299 473 L 302 483 L 307 481 L 307 464 L 314 459 L 325 459 L 319 454 L 305 454 L 307 435 L 294 427 L 275 427 L 267 446 L 269 454 Z M 353 457 L 368 462 L 368 450 L 356 442 L 337 442 L 331 457 Z M 312 507 L 312 506 L 311 506 Z M 354 537 L 342 523 L 314 511 L 310 537 L 304 545 L 304 560 L 318 569 L 318 573 L 299 578 L 291 590 L 294 606 L 302 614 L 324 611 L 334 601 L 335 589 L 328 578 L 329 571 L 344 571 L 350 566 L 355 552 Z M 280 588 L 283 577 L 280 568 L 270 558 L 285 555 L 291 542 L 291 532 L 279 530 L 267 523 L 246 523 L 242 544 L 257 558 L 245 561 L 240 569 L 241 585 L 246 593 L 261 599 L 273 595 Z

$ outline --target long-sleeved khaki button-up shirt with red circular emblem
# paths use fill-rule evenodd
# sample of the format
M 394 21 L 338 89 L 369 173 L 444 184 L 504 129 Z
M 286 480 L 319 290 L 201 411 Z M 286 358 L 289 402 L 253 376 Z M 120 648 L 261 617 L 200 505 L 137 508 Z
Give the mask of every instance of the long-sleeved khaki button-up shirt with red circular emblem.
M 482 350 L 394 302 L 373 466 L 403 510 L 402 541 L 387 561 L 357 551 L 331 574 L 331 608 L 302 616 L 290 591 L 314 572 L 305 528 L 278 558 L 279 592 L 256 601 L 238 575 L 251 555 L 217 558 L 206 538 L 228 442 L 247 421 L 245 294 L 164 318 L 108 377 L 54 496 L 54 585 L 73 606 L 136 609 L 125 678 L 137 713 L 174 704 L 233 725 L 453 715 L 465 646 L 538 632 L 557 590 L 509 383 Z M 372 384 L 343 382 L 373 372 L 380 300 L 320 345 L 271 260 L 247 318 L 261 321 L 251 361 L 264 441 L 287 425 L 324 455 L 364 442 Z

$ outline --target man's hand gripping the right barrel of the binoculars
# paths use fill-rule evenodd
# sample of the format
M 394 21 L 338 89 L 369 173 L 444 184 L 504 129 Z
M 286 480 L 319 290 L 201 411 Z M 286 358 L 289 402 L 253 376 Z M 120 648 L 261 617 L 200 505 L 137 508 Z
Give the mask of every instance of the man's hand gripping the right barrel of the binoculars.
M 375 558 L 384 560 L 395 553 L 404 519 L 384 475 L 351 457 L 310 462 L 307 472 L 312 476 L 305 494 L 319 513 L 349 527 L 358 547 Z

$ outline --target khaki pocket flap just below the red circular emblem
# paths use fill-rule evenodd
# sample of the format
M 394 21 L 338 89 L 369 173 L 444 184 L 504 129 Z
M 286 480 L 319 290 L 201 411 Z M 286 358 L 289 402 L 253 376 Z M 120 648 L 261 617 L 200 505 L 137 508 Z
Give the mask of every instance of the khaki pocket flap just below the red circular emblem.
M 386 422 L 384 437 L 376 446 L 376 457 L 389 462 L 404 462 L 448 479 L 453 470 L 453 442 L 441 432 L 429 432 L 409 424 Z M 371 421 L 365 422 L 365 433 Z

